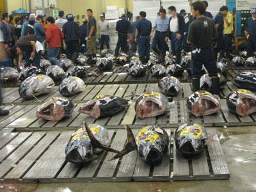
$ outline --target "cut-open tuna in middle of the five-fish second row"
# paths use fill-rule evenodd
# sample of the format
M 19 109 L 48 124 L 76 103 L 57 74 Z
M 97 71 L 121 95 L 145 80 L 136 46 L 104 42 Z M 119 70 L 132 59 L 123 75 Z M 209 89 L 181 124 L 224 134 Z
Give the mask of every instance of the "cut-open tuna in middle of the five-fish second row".
M 162 93 L 144 93 L 138 97 L 135 103 L 136 115 L 140 118 L 159 116 L 169 109 L 168 99 Z

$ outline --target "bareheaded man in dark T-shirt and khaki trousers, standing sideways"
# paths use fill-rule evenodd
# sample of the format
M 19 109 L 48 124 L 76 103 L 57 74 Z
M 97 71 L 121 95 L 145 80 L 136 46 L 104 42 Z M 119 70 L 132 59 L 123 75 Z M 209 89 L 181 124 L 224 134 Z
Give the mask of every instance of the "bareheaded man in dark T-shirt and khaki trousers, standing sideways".
M 92 58 L 96 57 L 96 40 L 97 40 L 97 29 L 96 29 L 96 19 L 93 17 L 93 13 L 91 9 L 87 10 L 87 17 L 89 19 L 87 25 L 87 56 L 88 63 L 92 61 Z

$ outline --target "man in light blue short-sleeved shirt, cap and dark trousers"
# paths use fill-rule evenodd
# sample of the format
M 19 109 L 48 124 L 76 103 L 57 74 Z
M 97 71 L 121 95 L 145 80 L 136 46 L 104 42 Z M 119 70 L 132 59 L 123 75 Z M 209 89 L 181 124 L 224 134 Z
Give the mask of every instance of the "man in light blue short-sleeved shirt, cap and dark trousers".
M 154 31 L 156 30 L 156 34 L 153 38 L 152 49 L 159 56 L 161 56 L 161 63 L 164 63 L 165 60 L 165 52 L 166 52 L 166 41 L 165 38 L 167 36 L 168 26 L 169 26 L 169 17 L 166 16 L 166 10 L 159 10 L 160 17 L 157 17 L 152 31 L 150 33 L 150 38 L 152 38 Z M 157 49 L 157 45 L 160 45 L 160 51 Z

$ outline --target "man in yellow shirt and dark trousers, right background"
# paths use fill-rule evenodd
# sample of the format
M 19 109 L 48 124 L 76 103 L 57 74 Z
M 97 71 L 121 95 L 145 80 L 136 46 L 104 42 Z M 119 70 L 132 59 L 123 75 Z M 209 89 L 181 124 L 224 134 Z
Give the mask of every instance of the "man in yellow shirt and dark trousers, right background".
M 233 15 L 228 12 L 224 19 L 224 51 L 229 60 L 232 60 L 232 38 L 233 38 Z

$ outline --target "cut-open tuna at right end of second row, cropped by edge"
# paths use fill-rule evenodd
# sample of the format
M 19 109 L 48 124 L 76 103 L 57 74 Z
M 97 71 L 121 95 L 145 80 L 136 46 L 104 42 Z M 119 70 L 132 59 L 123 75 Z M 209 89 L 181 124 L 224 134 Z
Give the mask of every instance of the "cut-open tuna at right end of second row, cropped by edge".
M 249 90 L 236 90 L 228 95 L 227 106 L 237 115 L 250 115 L 256 111 L 256 95 Z

